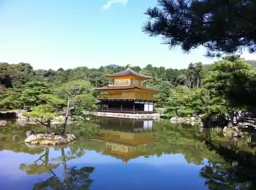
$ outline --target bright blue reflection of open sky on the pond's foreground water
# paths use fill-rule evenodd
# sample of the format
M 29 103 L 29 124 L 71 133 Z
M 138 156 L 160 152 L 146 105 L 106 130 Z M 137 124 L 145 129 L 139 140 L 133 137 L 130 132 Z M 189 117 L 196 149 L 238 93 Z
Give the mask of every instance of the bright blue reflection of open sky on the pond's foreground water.
M 50 149 L 50 158 L 61 156 L 60 151 Z M 21 163 L 31 164 L 39 155 L 0 152 L 0 189 L 29 190 L 34 183 L 44 181 L 51 174 L 27 175 L 19 170 Z M 53 161 L 50 161 L 53 162 Z M 93 183 L 90 189 L 207 189 L 199 176 L 202 166 L 187 164 L 182 154 L 164 154 L 161 157 L 138 157 L 125 167 L 121 160 L 87 151 L 82 157 L 67 162 L 68 167 L 95 167 L 90 175 Z M 62 178 L 62 166 L 54 172 Z

